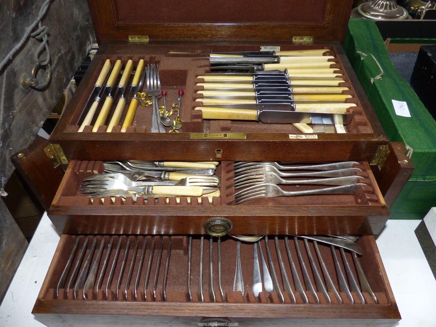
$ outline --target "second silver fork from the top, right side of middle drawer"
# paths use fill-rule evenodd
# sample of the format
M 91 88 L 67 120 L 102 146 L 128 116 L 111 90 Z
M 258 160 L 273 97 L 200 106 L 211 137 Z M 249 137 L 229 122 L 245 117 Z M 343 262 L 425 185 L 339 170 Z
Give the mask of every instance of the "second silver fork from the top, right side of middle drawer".
M 320 170 L 320 171 L 299 171 L 296 173 L 284 173 L 276 167 L 265 165 L 252 168 L 250 170 L 235 171 L 235 181 L 244 181 L 265 172 L 272 172 L 279 177 L 344 177 L 354 176 L 362 170 L 359 168 L 345 168 L 337 170 Z

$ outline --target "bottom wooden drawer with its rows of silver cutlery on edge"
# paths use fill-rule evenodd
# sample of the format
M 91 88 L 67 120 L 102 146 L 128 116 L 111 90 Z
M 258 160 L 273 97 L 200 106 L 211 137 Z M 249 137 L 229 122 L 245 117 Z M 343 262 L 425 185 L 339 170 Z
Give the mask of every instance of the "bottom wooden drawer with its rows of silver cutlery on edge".
M 230 237 L 218 242 L 194 236 L 190 242 L 188 236 L 64 234 L 33 313 L 48 326 L 198 326 L 199 322 L 392 326 L 400 319 L 373 236 L 363 236 L 357 244 L 363 253 L 358 263 L 376 301 L 360 284 L 357 262 L 347 250 L 341 253 L 318 242 L 318 252 L 312 241 L 292 236 L 269 236 L 268 246 L 265 238 L 259 243 L 262 252 L 256 243 L 241 243 L 242 282 L 237 283 L 238 242 Z M 273 284 L 275 275 L 277 281 L 273 291 L 265 290 L 262 281 L 258 296 L 253 293 L 253 249 L 259 257 L 259 276 L 263 255 L 265 272 Z M 340 286 L 341 273 L 346 286 Z M 284 289 L 286 278 L 291 291 Z M 234 291 L 238 284 L 242 292 Z

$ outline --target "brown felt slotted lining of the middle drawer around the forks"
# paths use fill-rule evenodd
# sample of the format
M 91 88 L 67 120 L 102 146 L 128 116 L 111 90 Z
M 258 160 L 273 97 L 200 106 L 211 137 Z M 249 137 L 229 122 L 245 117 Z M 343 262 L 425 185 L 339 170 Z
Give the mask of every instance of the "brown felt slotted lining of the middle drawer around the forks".
M 262 206 L 276 206 L 276 205 L 374 205 L 380 204 L 376 195 L 373 185 L 371 184 L 371 169 L 368 163 L 360 163 L 356 166 L 362 172 L 359 176 L 364 177 L 361 183 L 366 186 L 361 187 L 356 194 L 318 194 L 318 195 L 303 195 L 303 196 L 290 196 L 290 197 L 277 197 L 277 198 L 259 198 L 243 202 L 238 205 L 262 205 Z M 80 193 L 80 184 L 84 177 L 103 173 L 104 167 L 102 161 L 86 161 L 86 160 L 72 160 L 69 164 L 68 170 L 64 176 L 64 182 L 58 190 L 58 201 L 56 205 L 178 205 L 176 198 L 169 198 L 169 203 L 165 198 L 158 198 L 157 203 L 153 198 L 144 202 L 143 198 L 138 198 L 134 203 L 131 198 L 127 198 L 125 202 L 121 198 L 116 198 L 115 202 L 111 198 L 106 197 L 104 201 L 95 198 L 93 202 L 88 194 Z M 234 188 L 234 162 L 222 161 L 217 166 L 216 175 L 221 180 L 220 197 L 214 197 L 212 203 L 209 201 L 201 201 L 201 205 L 228 205 L 235 203 L 235 188 Z M 303 191 L 323 188 L 322 185 L 280 185 L 284 191 Z M 240 191 L 240 190 L 236 190 Z M 199 205 L 197 198 L 191 198 L 188 203 L 187 197 L 181 197 L 179 205 Z

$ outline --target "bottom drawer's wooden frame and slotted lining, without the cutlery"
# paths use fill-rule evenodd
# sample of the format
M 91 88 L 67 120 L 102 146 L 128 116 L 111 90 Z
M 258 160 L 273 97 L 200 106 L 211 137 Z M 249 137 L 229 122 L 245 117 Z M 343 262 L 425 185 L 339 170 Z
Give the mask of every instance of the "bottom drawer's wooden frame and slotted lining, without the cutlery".
M 94 287 L 86 292 L 86 299 L 83 296 L 83 289 L 77 290 L 76 298 L 75 292 L 72 287 L 66 290 L 65 285 L 60 283 L 60 287 L 57 291 L 59 279 L 61 279 L 62 273 L 64 272 L 65 266 L 67 265 L 68 259 L 73 251 L 76 241 L 78 246 L 76 252 L 73 251 L 72 261 L 70 262 L 69 268 L 66 269 L 65 280 L 71 279 L 73 268 L 76 265 L 79 256 L 79 250 L 82 249 L 85 242 L 85 238 L 88 238 L 88 245 L 86 246 L 85 258 L 89 256 L 89 251 L 92 247 L 94 238 L 96 238 L 96 246 L 94 254 L 90 257 L 92 260 L 91 264 L 96 260 L 97 249 L 101 245 L 102 239 L 105 239 L 104 251 L 101 254 L 101 258 L 106 257 L 107 245 L 109 244 L 111 238 L 113 238 L 113 245 L 111 252 L 109 253 L 109 259 L 107 263 L 107 268 L 102 273 L 102 285 L 97 292 L 97 288 Z M 116 245 L 121 238 L 121 245 L 118 256 L 115 258 Z M 150 264 L 150 274 L 147 283 L 147 287 L 144 293 L 144 285 L 146 280 L 146 271 L 148 267 L 148 259 L 150 257 L 151 243 L 154 238 L 154 252 L 153 259 Z M 126 259 L 126 244 L 129 239 L 129 248 L 127 252 Z M 143 245 L 146 240 L 146 251 L 143 255 Z M 279 261 L 277 259 L 276 248 L 274 245 L 274 238 L 269 238 L 269 248 L 271 249 L 272 262 L 274 269 L 277 273 L 277 278 L 279 280 L 279 288 L 284 296 L 284 303 L 280 303 L 279 297 L 276 291 L 262 292 L 259 296 L 255 296 L 252 292 L 252 271 L 253 271 L 253 243 L 244 243 L 241 245 L 241 268 L 242 276 L 244 280 L 244 294 L 240 291 L 233 291 L 233 282 L 235 276 L 235 258 L 236 258 L 236 244 L 237 242 L 229 237 L 221 239 L 221 285 L 224 293 L 224 300 L 221 297 L 219 283 L 218 283 L 218 238 L 213 238 L 213 259 L 212 259 L 212 269 L 213 269 L 213 289 L 215 290 L 215 298 L 217 303 L 213 303 L 209 294 L 209 249 L 210 249 L 210 239 L 204 239 L 204 249 L 203 249 L 203 266 L 202 266 L 202 293 L 204 302 L 199 300 L 199 273 L 200 273 L 200 237 L 193 237 L 192 241 L 192 255 L 191 255 L 191 296 L 192 302 L 187 300 L 187 265 L 188 265 L 188 251 L 189 251 L 189 237 L 187 236 L 172 236 L 171 237 L 171 251 L 169 265 L 166 266 L 166 258 L 168 251 L 168 243 L 170 237 L 168 236 L 151 236 L 151 235 L 136 235 L 136 236 L 111 236 L 111 235 L 62 235 L 61 241 L 59 242 L 58 249 L 55 252 L 54 258 L 51 262 L 51 266 L 48 270 L 48 274 L 44 280 L 41 292 L 38 296 L 37 302 L 33 313 L 38 320 L 44 322 L 48 326 L 58 326 L 59 321 L 63 320 L 70 321 L 71 318 L 77 317 L 79 320 L 85 321 L 86 317 L 90 315 L 98 314 L 104 320 L 111 320 L 111 324 L 118 326 L 123 322 L 131 321 L 132 325 L 135 325 L 135 320 L 131 319 L 130 316 L 140 315 L 141 324 L 143 324 L 146 319 L 157 319 L 157 317 L 151 318 L 146 316 L 181 316 L 189 317 L 186 318 L 194 324 L 196 321 L 200 321 L 204 317 L 221 317 L 228 319 L 230 321 L 240 322 L 240 324 L 248 323 L 248 318 L 276 318 L 276 319 L 302 319 L 299 320 L 301 323 L 304 319 L 317 319 L 317 318 L 330 318 L 330 319 L 356 319 L 354 324 L 366 324 L 376 325 L 380 324 L 383 326 L 393 325 L 395 321 L 399 320 L 399 312 L 395 304 L 395 299 L 392 295 L 392 290 L 389 286 L 387 277 L 385 275 L 384 268 L 381 263 L 380 256 L 378 254 L 377 246 L 375 245 L 375 240 L 372 236 L 363 236 L 357 243 L 363 249 L 363 255 L 359 258 L 362 269 L 368 279 L 368 282 L 377 297 L 377 304 L 371 300 L 371 297 L 367 293 L 363 293 L 365 304 L 362 304 L 356 293 L 352 293 L 354 298 L 354 304 L 351 304 L 344 293 L 340 293 L 342 304 L 339 304 L 336 299 L 334 299 L 333 294 L 329 293 L 331 303 L 327 303 L 323 294 L 317 292 L 317 297 L 320 303 L 316 303 L 313 293 L 308 291 L 304 284 L 304 290 L 307 294 L 308 303 L 303 303 L 300 295 L 295 291 L 295 285 L 293 284 L 293 278 L 289 261 L 287 260 L 287 252 L 284 244 L 283 237 L 279 237 L 279 249 L 283 261 L 285 262 L 286 273 L 289 276 L 291 288 L 294 290 L 296 296 L 296 302 L 292 303 L 290 296 L 283 291 L 283 283 L 280 275 Z M 160 249 L 160 242 L 163 242 L 160 266 L 157 274 L 156 283 L 154 279 L 157 272 L 157 259 L 158 252 Z M 303 240 L 299 238 L 300 248 L 302 249 L 303 261 L 305 265 L 310 267 L 308 261 L 308 256 L 306 249 L 304 247 Z M 267 259 L 265 240 L 262 239 L 262 250 L 263 254 Z M 326 263 L 327 270 L 330 273 L 332 280 L 336 288 L 338 288 L 337 273 L 334 267 L 333 256 L 331 254 L 330 246 L 318 243 L 320 252 Z M 303 280 L 303 275 L 301 271 L 300 262 L 297 259 L 295 244 L 292 238 L 289 240 L 289 247 L 291 255 L 294 257 L 296 262 L 296 269 Z M 315 255 L 313 244 L 310 243 L 310 251 Z M 339 250 L 337 255 L 341 258 Z M 135 254 L 135 255 L 134 255 Z M 140 258 L 143 256 L 143 261 L 141 263 Z M 134 259 L 135 257 L 135 259 Z M 357 278 L 357 272 L 353 264 L 353 259 L 351 254 L 346 254 L 347 261 L 350 263 L 352 272 Z M 341 259 L 340 259 L 341 260 Z M 80 269 L 83 268 L 85 260 L 79 265 Z M 105 285 L 109 278 L 109 269 L 112 262 L 116 262 L 115 268 L 113 269 L 112 281 L 109 286 L 106 298 L 106 288 Z M 97 269 L 97 277 L 100 276 L 103 270 L 103 260 L 100 260 L 100 265 Z M 124 264 L 124 268 L 121 268 Z M 132 263 L 133 262 L 133 263 Z M 319 262 L 317 262 L 318 269 Z M 342 261 L 341 261 L 342 262 Z M 141 265 L 141 267 L 140 267 Z M 343 263 L 341 263 L 343 265 Z M 130 268 L 132 267 L 132 268 Z M 344 268 L 344 266 L 342 266 Z M 79 270 L 80 270 L 79 269 Z M 163 300 L 163 283 L 164 275 L 167 269 L 167 283 L 165 288 L 166 301 Z M 271 269 L 271 268 L 269 268 Z M 313 281 L 312 270 L 309 269 L 310 279 Z M 121 274 L 121 275 L 120 275 Z M 130 277 L 129 277 L 130 276 Z M 129 278 L 129 283 L 126 280 Z M 75 277 L 72 278 L 75 283 Z M 97 280 L 97 279 L 96 279 Z M 117 283 L 117 281 L 120 281 Z M 136 283 L 136 280 L 138 282 Z M 118 296 L 117 296 L 117 284 Z M 127 285 L 127 287 L 126 287 Z M 136 297 L 135 297 L 135 285 Z M 153 285 L 156 285 L 153 292 Z M 153 297 L 153 293 L 155 296 Z M 177 310 L 177 311 L 175 311 Z M 79 315 L 79 316 L 76 316 Z M 363 320 L 359 320 L 363 319 Z M 100 320 L 101 321 L 101 320 Z M 268 320 L 262 320 L 263 322 L 268 322 Z M 286 320 L 283 320 L 283 323 Z M 290 322 L 292 320 L 288 320 Z M 332 320 L 333 321 L 333 320 Z M 77 322 L 76 322 L 77 323 Z M 91 321 L 89 321 L 91 323 Z M 136 321 L 136 323 L 139 323 Z

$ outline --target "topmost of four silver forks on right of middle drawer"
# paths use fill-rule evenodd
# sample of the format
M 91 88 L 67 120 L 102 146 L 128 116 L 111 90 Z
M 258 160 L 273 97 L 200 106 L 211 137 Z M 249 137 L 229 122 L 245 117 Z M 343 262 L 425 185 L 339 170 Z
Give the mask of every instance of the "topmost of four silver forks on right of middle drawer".
M 353 168 L 354 165 L 359 164 L 355 161 L 344 161 L 337 162 L 333 164 L 319 164 L 319 165 L 300 165 L 300 166 L 284 166 L 278 162 L 246 162 L 239 161 L 235 163 L 235 172 L 240 172 L 243 170 L 249 170 L 254 167 L 261 167 L 265 165 L 276 167 L 279 170 L 334 170 L 334 169 L 344 169 Z

